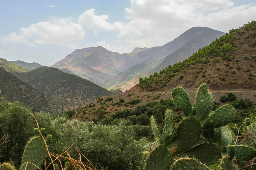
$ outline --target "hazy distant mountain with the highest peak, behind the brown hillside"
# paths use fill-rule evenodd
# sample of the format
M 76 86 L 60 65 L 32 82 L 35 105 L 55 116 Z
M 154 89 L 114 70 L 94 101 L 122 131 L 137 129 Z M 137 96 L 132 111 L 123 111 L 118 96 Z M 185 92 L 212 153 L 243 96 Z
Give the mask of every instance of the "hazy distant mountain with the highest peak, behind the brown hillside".
M 139 83 L 139 77 L 149 76 L 156 71 L 165 69 L 169 64 L 172 65 L 188 58 L 193 52 L 224 34 L 207 27 L 191 28 L 163 46 L 152 47 L 147 51 L 139 52 L 138 56 L 147 56 L 151 61 L 139 63 L 115 75 L 107 80 L 103 87 L 121 89 L 122 91 L 129 90 Z

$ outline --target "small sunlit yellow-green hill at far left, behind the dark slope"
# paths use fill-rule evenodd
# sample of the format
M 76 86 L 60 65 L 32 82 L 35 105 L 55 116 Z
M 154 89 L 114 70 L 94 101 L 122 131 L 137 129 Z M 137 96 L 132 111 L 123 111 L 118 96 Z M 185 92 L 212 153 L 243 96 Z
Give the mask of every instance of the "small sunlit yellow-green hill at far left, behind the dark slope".
M 0 58 L 0 67 L 3 67 L 6 71 L 12 73 L 12 72 L 17 72 L 17 73 L 23 73 L 23 72 L 28 72 L 30 69 L 23 68 L 21 66 L 18 66 L 10 61 L 7 61 L 6 59 Z

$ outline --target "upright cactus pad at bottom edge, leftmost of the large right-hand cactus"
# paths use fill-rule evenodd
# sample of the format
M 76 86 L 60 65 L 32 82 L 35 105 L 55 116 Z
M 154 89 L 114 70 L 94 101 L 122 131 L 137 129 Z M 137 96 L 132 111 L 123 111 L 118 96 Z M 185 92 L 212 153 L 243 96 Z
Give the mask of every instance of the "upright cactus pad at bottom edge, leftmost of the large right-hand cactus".
M 146 160 L 146 170 L 170 170 L 174 159 L 171 152 L 162 144 L 158 145 Z

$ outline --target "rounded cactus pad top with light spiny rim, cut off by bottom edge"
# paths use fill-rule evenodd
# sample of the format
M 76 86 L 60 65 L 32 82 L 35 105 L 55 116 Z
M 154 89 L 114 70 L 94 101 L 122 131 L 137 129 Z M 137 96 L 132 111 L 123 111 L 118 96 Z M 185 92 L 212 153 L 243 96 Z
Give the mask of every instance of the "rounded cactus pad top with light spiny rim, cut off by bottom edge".
M 210 170 L 206 165 L 193 158 L 180 158 L 176 160 L 171 170 Z

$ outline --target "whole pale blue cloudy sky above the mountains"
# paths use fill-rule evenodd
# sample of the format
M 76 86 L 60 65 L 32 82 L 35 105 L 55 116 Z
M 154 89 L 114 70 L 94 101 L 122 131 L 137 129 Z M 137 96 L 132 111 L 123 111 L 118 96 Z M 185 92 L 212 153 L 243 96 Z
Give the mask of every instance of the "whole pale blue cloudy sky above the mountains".
M 255 0 L 0 0 L 0 58 L 51 66 L 75 49 L 129 53 L 255 19 Z

